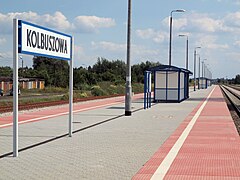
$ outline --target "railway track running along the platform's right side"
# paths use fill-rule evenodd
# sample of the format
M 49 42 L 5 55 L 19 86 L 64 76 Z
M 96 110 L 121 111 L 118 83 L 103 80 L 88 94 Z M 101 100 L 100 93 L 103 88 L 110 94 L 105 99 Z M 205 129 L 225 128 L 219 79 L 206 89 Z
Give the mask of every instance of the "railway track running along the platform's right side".
M 240 117 L 240 90 L 232 86 L 221 85 L 223 93 L 228 98 L 229 102 L 234 107 L 236 113 Z

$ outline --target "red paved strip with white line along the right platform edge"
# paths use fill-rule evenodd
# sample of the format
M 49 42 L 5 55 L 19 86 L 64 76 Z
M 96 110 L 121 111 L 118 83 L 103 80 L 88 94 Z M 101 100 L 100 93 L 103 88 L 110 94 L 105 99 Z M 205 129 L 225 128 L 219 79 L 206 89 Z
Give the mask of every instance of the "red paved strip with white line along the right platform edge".
M 239 135 L 216 87 L 133 179 L 240 179 L 239 150 Z

